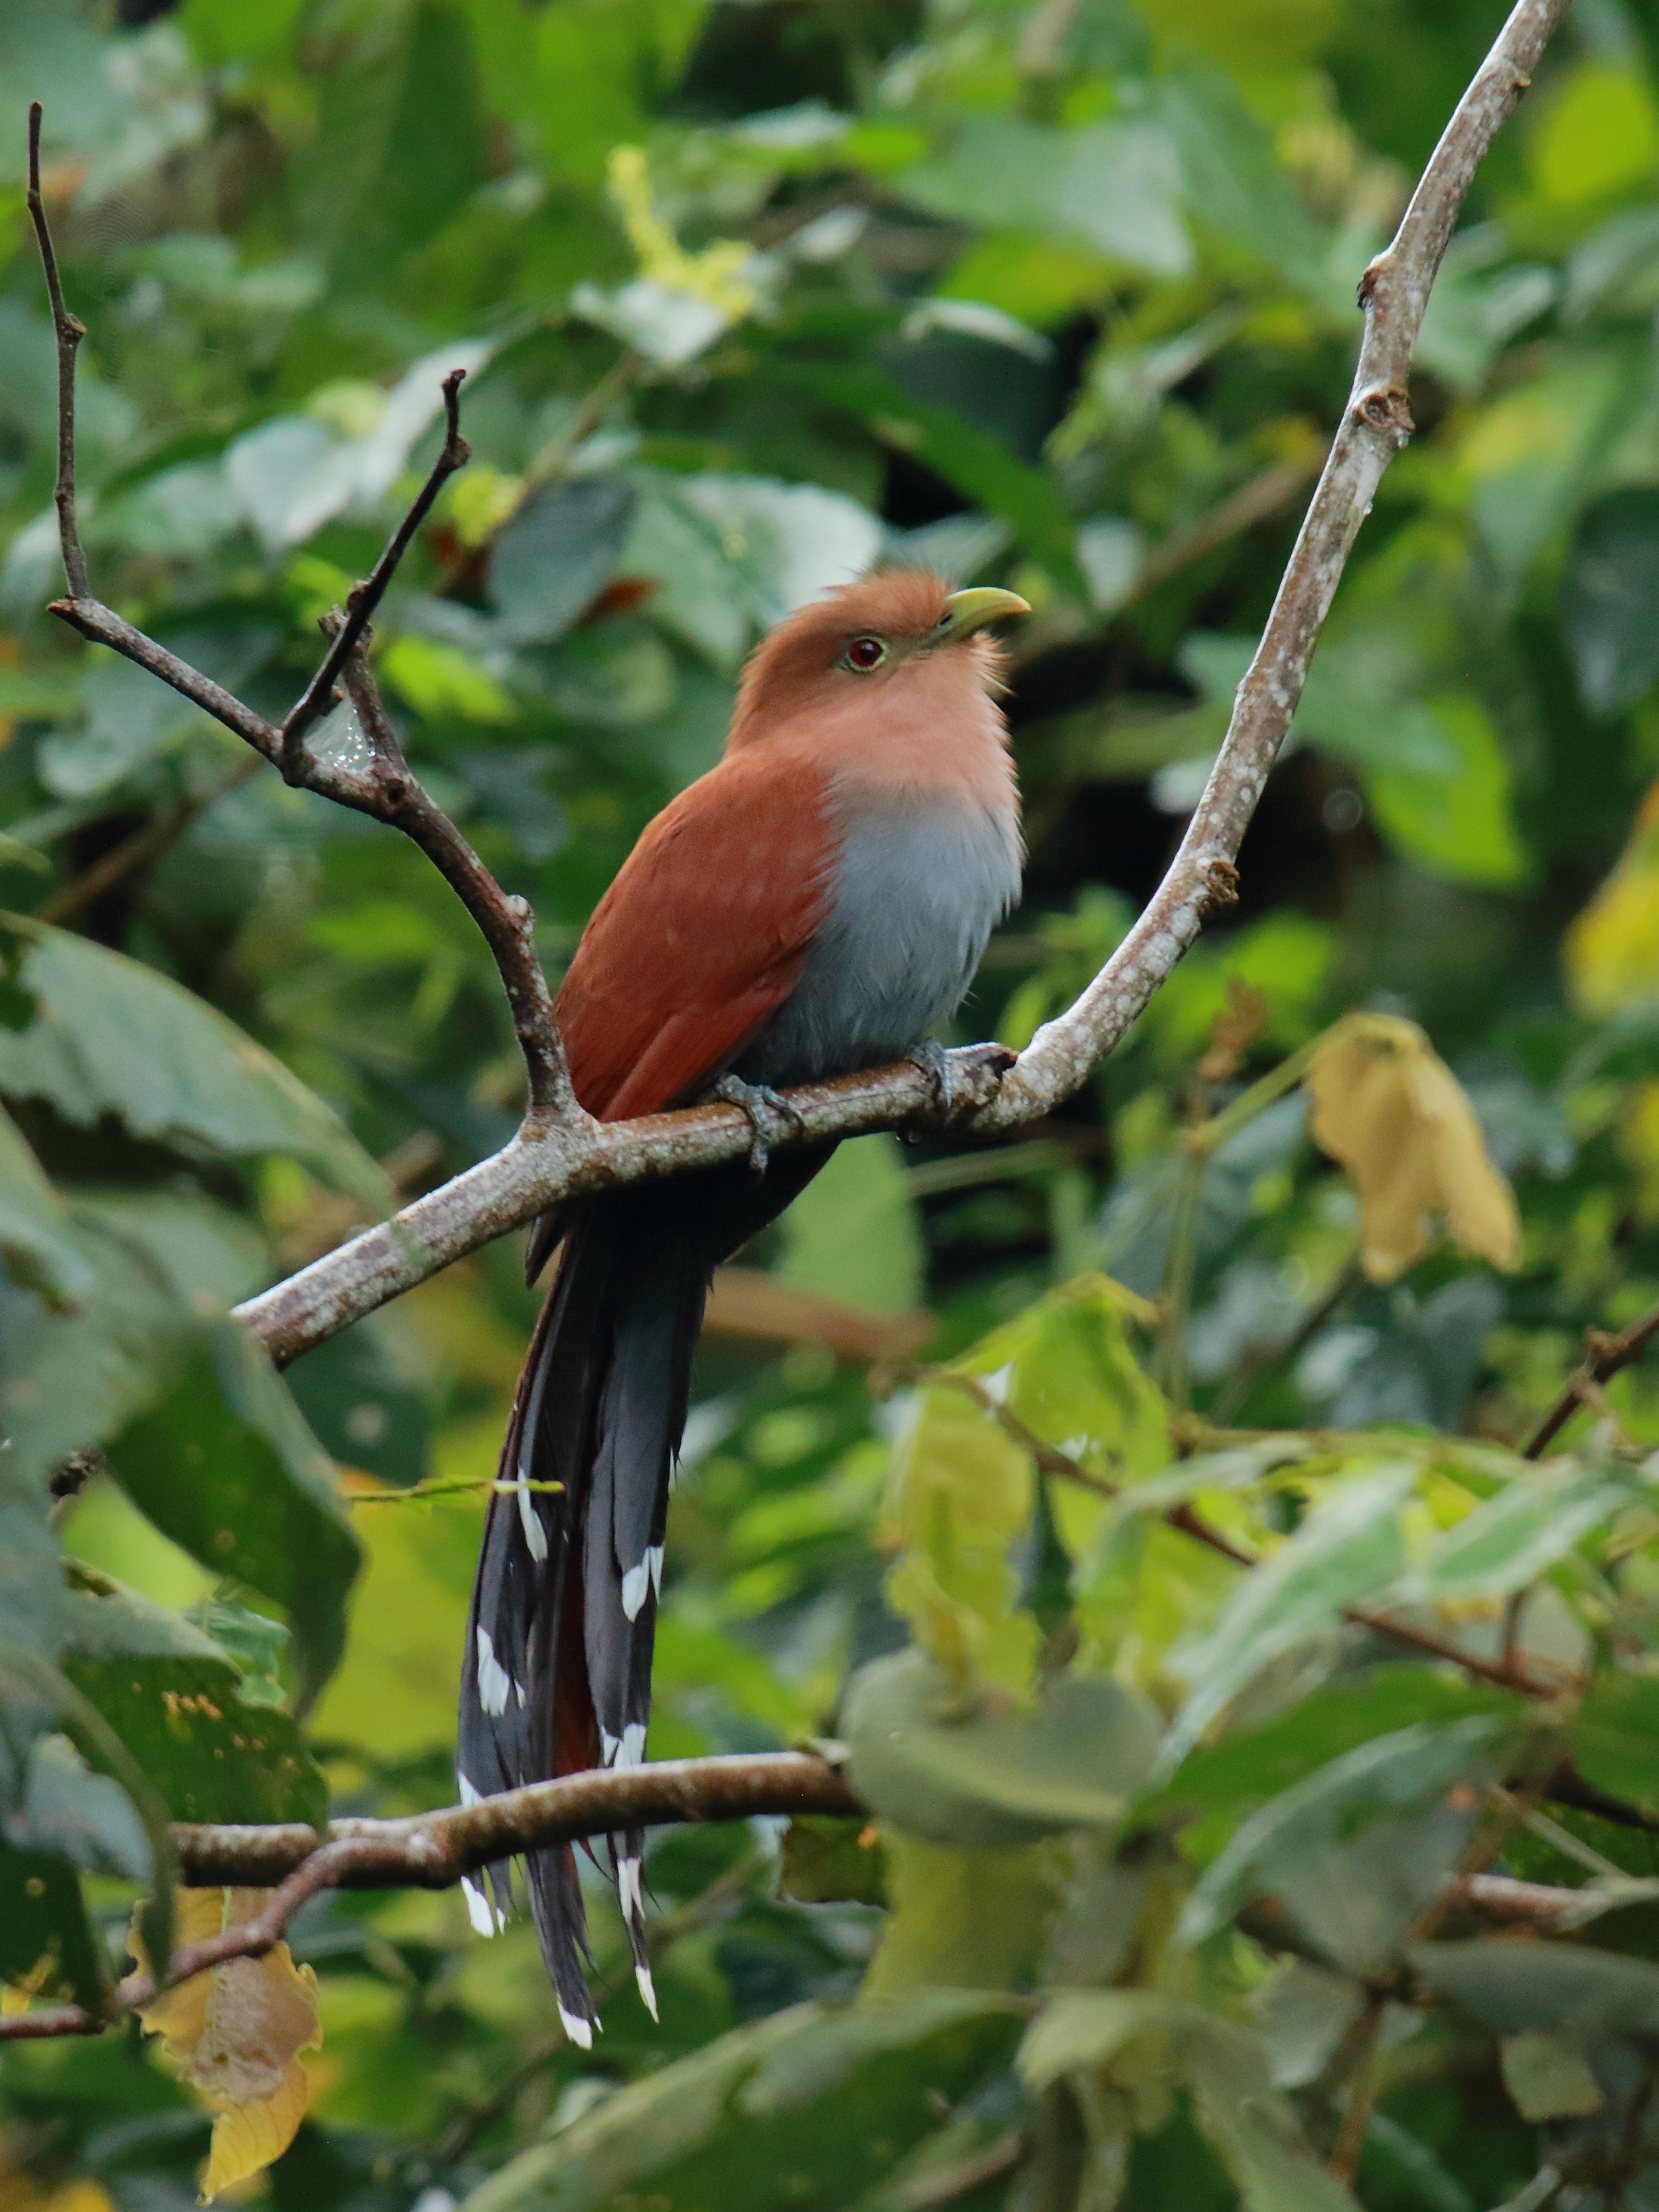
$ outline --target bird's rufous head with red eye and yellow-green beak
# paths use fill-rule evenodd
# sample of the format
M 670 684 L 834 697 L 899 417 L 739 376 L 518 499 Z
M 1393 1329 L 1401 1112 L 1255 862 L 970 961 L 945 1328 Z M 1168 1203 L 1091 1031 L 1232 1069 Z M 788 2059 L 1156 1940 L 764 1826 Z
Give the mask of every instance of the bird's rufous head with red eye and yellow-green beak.
M 1013 591 L 951 591 L 925 568 L 876 568 L 768 630 L 743 670 L 730 741 L 752 743 L 801 714 L 905 717 L 929 697 L 960 697 L 962 686 L 989 695 L 1000 655 L 987 626 L 1029 613 Z

